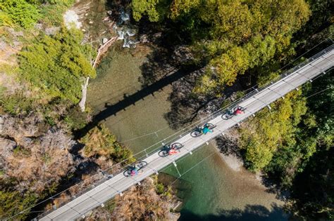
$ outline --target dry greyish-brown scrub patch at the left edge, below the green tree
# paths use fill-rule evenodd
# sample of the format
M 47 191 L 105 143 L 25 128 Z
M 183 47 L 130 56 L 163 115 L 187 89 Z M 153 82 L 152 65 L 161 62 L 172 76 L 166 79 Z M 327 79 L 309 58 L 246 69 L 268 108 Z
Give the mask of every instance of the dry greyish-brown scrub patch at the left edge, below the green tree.
M 41 194 L 75 170 L 68 152 L 75 142 L 63 130 L 46 129 L 35 114 L 0 119 L 1 186 Z

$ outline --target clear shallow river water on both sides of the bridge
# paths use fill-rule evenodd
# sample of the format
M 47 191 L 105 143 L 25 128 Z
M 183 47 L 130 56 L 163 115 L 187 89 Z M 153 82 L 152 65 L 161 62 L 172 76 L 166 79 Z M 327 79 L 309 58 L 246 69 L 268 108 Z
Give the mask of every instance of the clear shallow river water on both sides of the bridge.
M 140 66 L 151 50 L 142 46 L 130 50 L 120 48 L 120 43 L 113 47 L 101 62 L 97 79 L 90 83 L 88 102 L 95 113 L 142 90 L 138 81 L 142 73 Z M 139 152 L 174 133 L 163 118 L 171 108 L 170 93 L 171 86 L 166 86 L 109 116 L 104 123 L 120 142 Z M 161 128 L 164 129 L 158 133 L 145 135 Z M 181 180 L 191 189 L 180 220 L 287 220 L 280 208 L 283 203 L 266 192 L 252 173 L 231 170 L 214 142 L 176 163 L 179 172 L 185 173 Z M 178 177 L 174 166 L 163 172 Z

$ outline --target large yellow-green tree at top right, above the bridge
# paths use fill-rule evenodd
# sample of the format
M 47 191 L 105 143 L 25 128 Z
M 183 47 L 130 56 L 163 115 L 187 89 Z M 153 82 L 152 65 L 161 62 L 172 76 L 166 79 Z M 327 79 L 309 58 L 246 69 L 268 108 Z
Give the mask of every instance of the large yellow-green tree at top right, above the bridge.
M 218 93 L 230 86 L 238 74 L 263 65 L 287 48 L 310 11 L 302 0 L 215 1 L 202 8 L 200 14 L 209 23 L 209 39 L 202 47 L 210 56 L 206 78 L 216 83 L 207 85 L 202 77 L 194 92 Z

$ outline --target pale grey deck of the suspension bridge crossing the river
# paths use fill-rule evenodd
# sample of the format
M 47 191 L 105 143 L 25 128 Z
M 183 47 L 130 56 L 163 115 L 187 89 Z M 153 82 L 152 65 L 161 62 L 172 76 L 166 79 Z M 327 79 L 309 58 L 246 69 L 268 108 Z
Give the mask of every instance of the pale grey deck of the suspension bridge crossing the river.
M 54 208 L 54 210 L 48 211 L 47 213 L 43 213 L 39 216 L 39 220 L 75 220 L 78 217 L 85 217 L 85 213 L 98 206 L 104 206 L 104 202 L 113 198 L 117 194 L 122 195 L 122 192 L 132 185 L 140 185 L 140 182 L 144 180 L 144 178 L 147 178 L 154 173 L 159 173 L 159 170 L 166 168 L 169 164 L 173 163 L 177 169 L 177 164 L 175 163 L 177 159 L 180 159 L 187 154 L 192 154 L 195 149 L 202 145 L 207 145 L 209 140 L 216 138 L 218 135 L 222 135 L 225 130 L 238 125 L 249 116 L 254 116 L 260 109 L 271 109 L 271 102 L 278 99 L 284 99 L 285 94 L 293 90 L 298 90 L 299 86 L 307 83 L 307 81 L 312 81 L 312 79 L 315 79 L 321 74 L 326 74 L 326 71 L 332 69 L 333 66 L 334 45 L 331 45 L 285 72 L 285 74 L 273 79 L 273 81 L 266 83 L 264 86 L 254 88 L 253 91 L 250 91 L 247 95 L 236 102 L 233 102 L 229 106 L 229 109 L 233 109 L 233 107 L 236 106 L 244 107 L 244 114 L 233 116 L 233 118 L 230 119 L 222 118 L 222 114 L 224 114 L 226 109 L 222 109 L 212 114 L 209 119 L 202 122 L 212 123 L 216 126 L 212 133 L 193 138 L 190 135 L 191 130 L 184 130 L 182 134 L 178 135 L 178 138 L 168 140 L 168 143 L 180 142 L 183 144 L 183 148 L 180 149 L 178 154 L 161 157 L 158 154 L 160 149 L 154 149 L 154 151 L 151 152 L 148 152 L 145 149 L 144 157 L 142 157 L 140 161 L 146 161 L 148 164 L 142 169 L 142 173 L 133 177 L 125 177 L 122 171 L 121 173 L 110 176 L 104 182 L 101 182 L 84 194 L 75 197 L 75 199 L 63 206 Z M 162 142 L 161 148 L 166 144 L 167 143 Z

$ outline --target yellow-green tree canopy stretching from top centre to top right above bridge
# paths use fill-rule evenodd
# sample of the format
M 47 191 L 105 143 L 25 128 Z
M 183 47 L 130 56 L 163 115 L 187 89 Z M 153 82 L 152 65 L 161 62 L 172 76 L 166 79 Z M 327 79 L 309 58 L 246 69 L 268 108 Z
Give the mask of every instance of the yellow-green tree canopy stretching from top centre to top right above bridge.
M 170 19 L 190 36 L 197 60 L 208 62 L 194 92 L 218 94 L 287 48 L 311 14 L 304 0 L 133 0 L 132 11 L 135 20 Z

